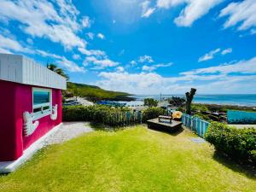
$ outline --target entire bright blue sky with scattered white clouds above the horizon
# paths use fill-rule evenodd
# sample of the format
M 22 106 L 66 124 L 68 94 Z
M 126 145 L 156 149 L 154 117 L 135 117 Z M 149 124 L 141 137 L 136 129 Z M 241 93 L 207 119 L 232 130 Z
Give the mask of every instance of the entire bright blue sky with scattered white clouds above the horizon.
M 0 52 L 135 94 L 256 93 L 256 1 L 0 0 Z

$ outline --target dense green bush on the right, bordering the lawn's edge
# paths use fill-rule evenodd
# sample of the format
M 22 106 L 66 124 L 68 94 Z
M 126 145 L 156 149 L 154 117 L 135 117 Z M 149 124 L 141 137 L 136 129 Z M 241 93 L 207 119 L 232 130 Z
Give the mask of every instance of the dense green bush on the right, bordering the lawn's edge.
M 255 128 L 237 129 L 212 122 L 208 127 L 206 140 L 234 160 L 256 164 Z

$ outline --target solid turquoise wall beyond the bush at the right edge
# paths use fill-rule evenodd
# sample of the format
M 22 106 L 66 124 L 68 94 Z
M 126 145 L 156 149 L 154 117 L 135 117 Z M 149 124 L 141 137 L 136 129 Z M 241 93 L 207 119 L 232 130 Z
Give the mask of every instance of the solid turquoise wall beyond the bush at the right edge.
M 229 124 L 256 124 L 256 113 L 228 110 Z

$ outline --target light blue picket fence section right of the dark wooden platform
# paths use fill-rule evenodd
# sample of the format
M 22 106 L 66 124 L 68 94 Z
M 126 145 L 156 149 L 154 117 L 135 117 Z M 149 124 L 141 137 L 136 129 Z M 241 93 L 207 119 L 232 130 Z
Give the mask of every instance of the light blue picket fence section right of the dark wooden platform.
M 199 137 L 204 137 L 207 132 L 207 128 L 210 125 L 209 122 L 193 117 L 189 114 L 183 114 L 183 125 L 188 127 L 189 130 L 195 131 Z

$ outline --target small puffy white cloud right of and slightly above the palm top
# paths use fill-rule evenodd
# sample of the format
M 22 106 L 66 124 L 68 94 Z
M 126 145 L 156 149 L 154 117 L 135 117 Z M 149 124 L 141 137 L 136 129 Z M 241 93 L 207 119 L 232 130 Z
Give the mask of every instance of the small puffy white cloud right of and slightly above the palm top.
M 93 64 L 96 66 L 93 69 L 103 69 L 106 67 L 118 66 L 119 62 L 109 60 L 108 57 L 96 58 L 95 56 L 88 56 L 84 60 L 84 66 L 88 66 L 89 64 Z

